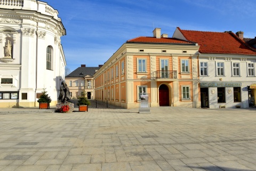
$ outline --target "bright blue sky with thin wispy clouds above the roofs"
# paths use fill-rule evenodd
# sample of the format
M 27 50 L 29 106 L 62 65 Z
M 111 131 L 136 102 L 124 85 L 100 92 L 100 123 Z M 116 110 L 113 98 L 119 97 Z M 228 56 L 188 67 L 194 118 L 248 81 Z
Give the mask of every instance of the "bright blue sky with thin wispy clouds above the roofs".
M 66 28 L 61 44 L 70 71 L 98 67 L 126 40 L 153 36 L 154 28 L 172 37 L 176 27 L 200 31 L 244 31 L 256 36 L 255 0 L 45 0 Z

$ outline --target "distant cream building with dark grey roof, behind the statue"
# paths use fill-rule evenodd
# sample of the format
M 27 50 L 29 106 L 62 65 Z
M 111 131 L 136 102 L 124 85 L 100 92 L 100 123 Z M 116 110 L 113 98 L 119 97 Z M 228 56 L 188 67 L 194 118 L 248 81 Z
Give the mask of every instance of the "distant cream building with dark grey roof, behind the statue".
M 65 77 L 69 87 L 70 95 L 73 99 L 85 96 L 87 99 L 94 99 L 94 78 L 93 75 L 100 69 L 99 67 L 86 67 L 81 64 L 76 70 Z

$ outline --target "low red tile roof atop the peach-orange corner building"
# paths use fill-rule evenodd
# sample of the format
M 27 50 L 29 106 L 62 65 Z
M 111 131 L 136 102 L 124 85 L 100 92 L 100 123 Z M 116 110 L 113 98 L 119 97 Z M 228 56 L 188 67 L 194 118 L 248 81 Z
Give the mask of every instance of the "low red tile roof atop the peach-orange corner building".
M 169 37 L 136 37 L 130 40 L 127 40 L 127 43 L 170 43 L 170 44 L 193 44 L 186 40 L 181 40 L 177 38 L 169 38 Z

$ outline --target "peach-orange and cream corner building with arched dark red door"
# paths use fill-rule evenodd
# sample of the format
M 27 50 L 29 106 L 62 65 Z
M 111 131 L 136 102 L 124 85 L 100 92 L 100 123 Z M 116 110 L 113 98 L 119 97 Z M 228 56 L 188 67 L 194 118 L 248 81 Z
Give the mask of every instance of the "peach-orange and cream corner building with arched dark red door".
M 138 108 L 149 94 L 151 107 L 200 107 L 196 43 L 161 35 L 127 40 L 94 74 L 95 99 Z

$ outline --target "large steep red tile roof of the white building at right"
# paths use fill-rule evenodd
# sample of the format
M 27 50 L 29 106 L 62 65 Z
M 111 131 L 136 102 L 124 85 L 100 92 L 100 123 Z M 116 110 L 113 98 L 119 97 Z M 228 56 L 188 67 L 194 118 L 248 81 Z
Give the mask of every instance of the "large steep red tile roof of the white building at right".
M 231 31 L 193 31 L 181 30 L 179 27 L 178 29 L 187 40 L 198 43 L 200 53 L 256 55 L 255 50 Z

